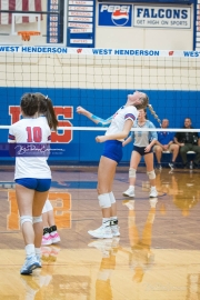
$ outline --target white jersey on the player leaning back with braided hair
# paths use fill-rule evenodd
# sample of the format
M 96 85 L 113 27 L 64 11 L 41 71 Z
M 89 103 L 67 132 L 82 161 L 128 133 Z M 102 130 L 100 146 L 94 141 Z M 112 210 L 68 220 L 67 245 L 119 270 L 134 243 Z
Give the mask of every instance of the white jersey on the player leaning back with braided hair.
M 121 107 L 112 117 L 111 124 L 109 126 L 106 136 L 119 133 L 123 130 L 127 120 L 134 120 L 138 118 L 138 110 L 133 106 Z M 123 139 L 119 140 L 123 141 Z

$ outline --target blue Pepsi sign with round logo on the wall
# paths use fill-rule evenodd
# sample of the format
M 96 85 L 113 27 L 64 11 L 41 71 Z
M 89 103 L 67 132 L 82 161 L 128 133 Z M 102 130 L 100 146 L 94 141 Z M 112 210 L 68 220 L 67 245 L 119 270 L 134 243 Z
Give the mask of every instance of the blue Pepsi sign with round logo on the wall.
M 99 26 L 131 27 L 132 6 L 99 3 Z

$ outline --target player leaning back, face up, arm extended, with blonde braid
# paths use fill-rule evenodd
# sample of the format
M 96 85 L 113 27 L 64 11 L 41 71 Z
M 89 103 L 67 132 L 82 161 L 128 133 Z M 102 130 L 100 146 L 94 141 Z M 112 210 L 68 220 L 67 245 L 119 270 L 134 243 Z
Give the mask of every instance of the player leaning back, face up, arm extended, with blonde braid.
M 146 108 L 149 99 L 146 93 L 136 91 L 128 94 L 127 103 L 112 117 L 102 120 L 82 107 L 77 112 L 88 117 L 98 126 L 109 126 L 104 136 L 96 138 L 97 142 L 104 142 L 103 153 L 98 168 L 98 199 L 102 211 L 102 226 L 88 233 L 94 238 L 112 238 L 120 236 L 117 217 L 117 203 L 112 192 L 112 183 L 117 164 L 122 159 L 122 142 L 128 137 L 133 121 L 138 117 L 138 110 Z

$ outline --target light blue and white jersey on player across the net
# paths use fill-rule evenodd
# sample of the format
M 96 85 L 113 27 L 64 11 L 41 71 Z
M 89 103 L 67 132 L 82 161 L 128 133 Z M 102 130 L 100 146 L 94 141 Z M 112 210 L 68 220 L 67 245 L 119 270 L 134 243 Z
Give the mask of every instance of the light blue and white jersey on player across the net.
M 142 129 L 154 128 L 156 129 L 154 124 L 149 120 L 146 120 L 146 123 L 143 126 L 139 126 L 138 120 L 136 120 L 133 123 L 133 128 L 142 128 Z M 150 141 L 158 140 L 158 133 L 157 131 L 133 131 L 132 139 L 134 140 L 133 141 L 134 146 L 147 147 L 150 143 Z

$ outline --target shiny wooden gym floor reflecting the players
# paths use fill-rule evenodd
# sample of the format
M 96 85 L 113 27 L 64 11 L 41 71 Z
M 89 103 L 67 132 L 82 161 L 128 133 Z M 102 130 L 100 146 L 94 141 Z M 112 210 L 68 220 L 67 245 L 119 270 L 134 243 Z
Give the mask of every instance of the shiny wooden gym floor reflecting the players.
M 140 168 L 129 201 L 122 197 L 128 168 L 119 167 L 116 239 L 88 234 L 101 224 L 96 187 L 96 167 L 52 168 L 49 199 L 61 242 L 42 247 L 42 268 L 20 276 L 24 246 L 13 168 L 0 167 L 0 300 L 200 299 L 200 171 L 157 171 L 157 202 Z

